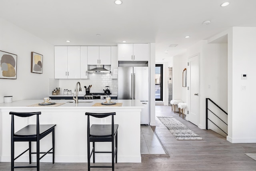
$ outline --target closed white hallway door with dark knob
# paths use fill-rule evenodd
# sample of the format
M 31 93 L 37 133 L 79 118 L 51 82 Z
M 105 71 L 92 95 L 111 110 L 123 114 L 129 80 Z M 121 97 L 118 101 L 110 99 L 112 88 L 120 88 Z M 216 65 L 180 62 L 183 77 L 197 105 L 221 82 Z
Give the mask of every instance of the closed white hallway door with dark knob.
M 188 91 L 188 115 L 187 120 L 198 126 L 199 123 L 199 56 L 188 59 L 189 65 L 189 91 Z

